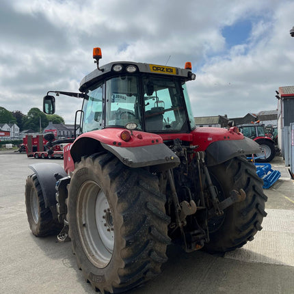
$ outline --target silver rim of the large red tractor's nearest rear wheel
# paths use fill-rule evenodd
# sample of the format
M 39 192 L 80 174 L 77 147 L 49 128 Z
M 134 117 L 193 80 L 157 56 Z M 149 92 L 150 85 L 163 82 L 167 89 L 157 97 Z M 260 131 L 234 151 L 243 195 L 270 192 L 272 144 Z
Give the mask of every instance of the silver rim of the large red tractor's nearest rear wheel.
M 96 267 L 106 267 L 113 254 L 113 221 L 105 193 L 94 181 L 81 185 L 76 217 L 81 244 L 88 259 Z

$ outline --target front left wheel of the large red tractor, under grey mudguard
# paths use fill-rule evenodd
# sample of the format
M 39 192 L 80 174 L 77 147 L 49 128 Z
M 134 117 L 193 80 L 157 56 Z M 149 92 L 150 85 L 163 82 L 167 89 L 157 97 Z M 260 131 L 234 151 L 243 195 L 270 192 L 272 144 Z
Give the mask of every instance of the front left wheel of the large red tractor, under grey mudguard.
M 45 207 L 42 189 L 36 174 L 27 177 L 25 206 L 29 228 L 35 236 L 41 237 L 60 232 L 61 226 L 53 218 L 51 209 Z

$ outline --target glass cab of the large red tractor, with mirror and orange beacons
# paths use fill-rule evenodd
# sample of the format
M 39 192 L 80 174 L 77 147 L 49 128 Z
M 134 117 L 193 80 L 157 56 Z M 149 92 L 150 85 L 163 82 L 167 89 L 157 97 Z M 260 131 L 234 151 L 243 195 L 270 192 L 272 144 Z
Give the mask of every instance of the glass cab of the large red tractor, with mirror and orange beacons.
M 148 133 L 190 133 L 195 129 L 185 85 L 196 78 L 189 63 L 185 69 L 136 62 L 111 62 L 99 68 L 101 56 L 101 51 L 94 49 L 97 69 L 81 81 L 83 94 L 76 93 L 83 97 L 81 122 L 76 121 L 81 133 L 105 128 Z M 45 113 L 55 109 L 53 98 L 44 97 Z

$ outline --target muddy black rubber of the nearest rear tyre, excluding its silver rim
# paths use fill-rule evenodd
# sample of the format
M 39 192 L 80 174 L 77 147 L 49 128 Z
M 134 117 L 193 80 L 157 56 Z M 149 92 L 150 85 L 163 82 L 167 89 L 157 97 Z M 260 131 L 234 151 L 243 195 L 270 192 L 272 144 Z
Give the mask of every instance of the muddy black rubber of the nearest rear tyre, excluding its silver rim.
M 116 205 L 116 213 L 122 219 L 119 234 L 124 247 L 118 253 L 119 256 L 116 256 L 122 260 L 120 266 L 113 270 L 116 273 L 111 269 L 111 275 L 114 274 L 116 278 L 105 278 L 105 282 L 93 281 L 88 269 L 90 265 L 83 260 L 88 258 L 77 256 L 81 250 L 77 250 L 75 237 L 72 236 L 73 230 L 70 229 L 78 267 L 82 269 L 85 280 L 90 281 L 92 287 L 99 289 L 101 293 L 127 291 L 157 275 L 162 263 L 167 260 L 165 251 L 170 243 L 170 217 L 165 215 L 165 195 L 159 192 L 157 176 L 146 170 L 128 168 L 108 152 L 82 158 L 80 163 L 77 163 L 76 170 L 82 168 L 95 171 L 104 179 L 103 185 L 113 193 L 111 197 L 115 199 L 113 203 Z M 73 183 L 73 180 L 70 183 Z M 69 191 L 70 189 L 69 187 Z M 70 197 L 69 193 L 68 198 Z M 68 205 L 71 205 L 70 202 Z M 72 219 L 70 213 L 68 219 Z M 113 263 L 112 267 L 116 265 Z

